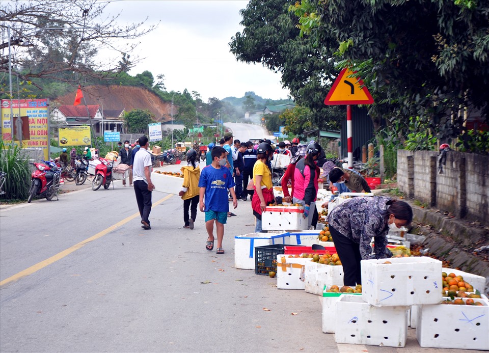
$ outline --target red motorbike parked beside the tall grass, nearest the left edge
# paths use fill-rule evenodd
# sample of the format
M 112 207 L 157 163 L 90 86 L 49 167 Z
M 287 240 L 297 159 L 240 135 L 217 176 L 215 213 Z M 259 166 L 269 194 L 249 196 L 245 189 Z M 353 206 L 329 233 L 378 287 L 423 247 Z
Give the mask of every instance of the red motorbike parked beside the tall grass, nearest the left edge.
M 31 188 L 29 190 L 29 198 L 27 203 L 31 203 L 34 196 L 39 198 L 45 197 L 51 201 L 56 195 L 58 200 L 58 190 L 63 183 L 61 171 L 53 162 L 42 160 L 42 163 L 30 162 L 29 164 L 36 167 L 31 174 Z

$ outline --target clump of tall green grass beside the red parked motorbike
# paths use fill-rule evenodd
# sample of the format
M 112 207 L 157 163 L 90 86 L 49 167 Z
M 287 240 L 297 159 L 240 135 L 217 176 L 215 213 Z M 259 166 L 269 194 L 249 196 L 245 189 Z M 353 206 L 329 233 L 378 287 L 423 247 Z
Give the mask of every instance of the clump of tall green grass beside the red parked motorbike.
M 8 145 L 0 141 L 0 171 L 6 173 L 2 187 L 5 194 L 1 197 L 8 200 L 25 200 L 29 196 L 31 169 L 29 160 L 22 155 L 17 145 Z

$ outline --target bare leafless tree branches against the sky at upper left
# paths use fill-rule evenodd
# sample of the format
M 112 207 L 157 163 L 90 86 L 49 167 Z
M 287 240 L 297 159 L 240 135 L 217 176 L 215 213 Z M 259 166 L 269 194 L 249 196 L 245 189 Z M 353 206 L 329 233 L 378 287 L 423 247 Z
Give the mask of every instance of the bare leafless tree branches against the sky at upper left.
M 144 21 L 119 26 L 119 15 L 104 15 L 108 2 L 96 0 L 28 0 L 0 3 L 0 28 L 3 38 L 10 30 L 14 51 L 12 75 L 36 83 L 50 78 L 75 86 L 81 77 L 110 78 L 110 73 L 127 72 L 138 58 L 129 61 L 135 44 L 117 39 L 135 39 L 151 32 Z M 8 42 L 0 43 L 0 49 Z M 118 52 L 120 61 L 96 62 L 95 54 L 109 47 Z M 4 51 L 5 52 L 5 51 Z M 8 72 L 8 58 L 0 58 L 0 72 Z

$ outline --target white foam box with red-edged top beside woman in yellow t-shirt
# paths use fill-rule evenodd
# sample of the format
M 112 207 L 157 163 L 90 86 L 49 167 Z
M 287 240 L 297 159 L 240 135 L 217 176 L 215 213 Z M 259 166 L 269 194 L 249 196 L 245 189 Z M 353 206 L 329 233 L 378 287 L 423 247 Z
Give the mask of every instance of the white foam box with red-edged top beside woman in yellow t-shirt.
M 303 217 L 304 207 L 269 206 L 261 214 L 263 230 L 306 230 L 307 219 Z

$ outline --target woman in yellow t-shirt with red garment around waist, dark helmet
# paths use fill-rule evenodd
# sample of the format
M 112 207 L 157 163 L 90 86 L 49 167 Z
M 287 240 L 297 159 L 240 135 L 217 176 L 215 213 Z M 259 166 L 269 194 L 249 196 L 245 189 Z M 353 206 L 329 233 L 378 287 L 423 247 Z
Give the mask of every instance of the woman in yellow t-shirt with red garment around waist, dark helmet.
M 274 149 L 270 144 L 262 142 L 256 149 L 256 163 L 253 167 L 254 190 L 251 200 L 253 215 L 256 218 L 255 233 L 262 232 L 261 215 L 265 207 L 275 203 L 273 183 L 271 182 L 271 172 L 266 162 L 273 158 Z

